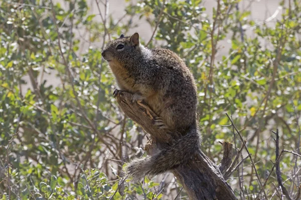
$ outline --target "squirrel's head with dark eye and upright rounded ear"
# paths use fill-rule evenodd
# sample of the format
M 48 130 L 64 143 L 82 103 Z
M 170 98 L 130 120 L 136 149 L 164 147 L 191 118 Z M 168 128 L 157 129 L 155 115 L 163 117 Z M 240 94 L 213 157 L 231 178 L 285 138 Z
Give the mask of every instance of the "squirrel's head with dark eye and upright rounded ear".
M 130 37 L 125 37 L 121 34 L 119 38 L 107 43 L 106 47 L 101 52 L 101 55 L 110 65 L 124 65 L 125 62 L 134 61 L 131 59 L 139 57 L 139 54 L 141 53 L 140 47 L 141 44 L 137 32 Z

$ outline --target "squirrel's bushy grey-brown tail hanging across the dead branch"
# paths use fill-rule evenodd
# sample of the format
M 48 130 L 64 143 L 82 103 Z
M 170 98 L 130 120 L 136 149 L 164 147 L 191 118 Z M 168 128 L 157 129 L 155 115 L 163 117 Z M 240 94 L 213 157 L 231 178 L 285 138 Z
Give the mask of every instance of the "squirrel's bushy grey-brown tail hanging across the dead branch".
M 171 146 L 145 158 L 137 158 L 125 166 L 125 173 L 138 180 L 145 175 L 154 176 L 172 170 L 192 160 L 192 155 L 200 148 L 201 136 L 196 127 Z

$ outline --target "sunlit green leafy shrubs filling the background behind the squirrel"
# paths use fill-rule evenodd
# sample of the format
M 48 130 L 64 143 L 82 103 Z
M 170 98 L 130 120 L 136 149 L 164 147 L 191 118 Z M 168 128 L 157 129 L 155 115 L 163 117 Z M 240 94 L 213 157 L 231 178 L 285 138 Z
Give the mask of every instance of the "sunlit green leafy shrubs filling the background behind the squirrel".
M 0 2 L 2 199 L 170 199 L 181 191 L 171 174 L 141 183 L 122 176 L 124 162 L 143 154 L 136 147 L 142 147 L 146 133 L 112 98 L 115 84 L 99 48 L 121 33 L 133 33 L 145 20 L 157 31 L 142 43 L 177 52 L 194 73 L 202 148 L 212 160 L 221 159 L 220 140 L 242 146 L 232 127 L 222 126 L 229 124 L 225 112 L 247 139 L 262 181 L 275 160 L 271 130 L 279 128 L 280 145 L 300 154 L 299 1 L 281 2 L 281 17 L 272 26 L 250 19 L 239 0 L 217 0 L 212 17 L 201 0 L 128 1 L 122 20 L 103 11 L 102 1 L 93 1 L 100 21 L 86 0 Z M 78 33 L 82 30 L 88 38 Z M 229 53 L 218 56 L 227 38 Z M 86 39 L 97 48 L 82 52 Z M 51 74 L 55 80 L 46 81 Z M 289 153 L 280 160 L 292 196 L 300 184 L 300 165 L 300 158 Z M 241 199 L 257 195 L 254 173 L 246 159 L 228 181 Z M 265 193 L 276 199 L 272 182 L 275 175 Z M 185 195 L 182 190 L 182 199 Z

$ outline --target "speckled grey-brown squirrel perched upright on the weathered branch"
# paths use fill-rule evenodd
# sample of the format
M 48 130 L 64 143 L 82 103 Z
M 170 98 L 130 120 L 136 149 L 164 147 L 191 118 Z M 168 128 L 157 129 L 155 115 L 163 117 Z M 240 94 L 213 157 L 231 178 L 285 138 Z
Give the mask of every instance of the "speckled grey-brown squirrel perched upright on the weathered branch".
M 144 100 L 160 117 L 158 128 L 183 136 L 152 156 L 127 163 L 125 173 L 138 180 L 187 164 L 201 144 L 197 122 L 197 86 L 192 72 L 173 51 L 146 48 L 139 34 L 123 34 L 109 41 L 101 52 L 121 90 L 132 93 L 132 102 Z

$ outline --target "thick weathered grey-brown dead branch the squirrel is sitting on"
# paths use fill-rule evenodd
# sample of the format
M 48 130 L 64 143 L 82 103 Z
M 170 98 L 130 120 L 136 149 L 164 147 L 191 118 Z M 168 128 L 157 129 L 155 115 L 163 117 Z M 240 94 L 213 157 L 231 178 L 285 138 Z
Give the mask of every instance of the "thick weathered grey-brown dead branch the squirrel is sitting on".
M 114 96 L 124 113 L 150 134 L 150 139 L 145 144 L 145 150 L 149 155 L 181 137 L 180 133 L 170 133 L 164 129 L 157 129 L 153 123 L 153 119 L 157 115 L 145 102 L 131 102 L 132 94 L 116 89 Z M 232 188 L 223 177 L 226 169 L 231 164 L 232 144 L 229 142 L 223 142 L 222 144 L 224 154 L 219 165 L 213 163 L 199 149 L 194 160 L 172 171 L 186 189 L 190 199 L 237 199 Z

